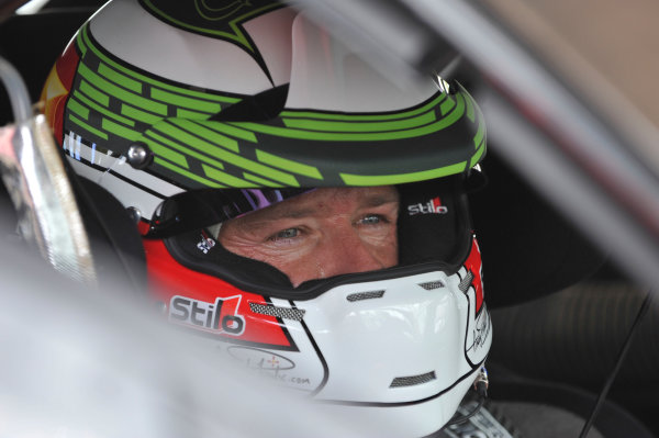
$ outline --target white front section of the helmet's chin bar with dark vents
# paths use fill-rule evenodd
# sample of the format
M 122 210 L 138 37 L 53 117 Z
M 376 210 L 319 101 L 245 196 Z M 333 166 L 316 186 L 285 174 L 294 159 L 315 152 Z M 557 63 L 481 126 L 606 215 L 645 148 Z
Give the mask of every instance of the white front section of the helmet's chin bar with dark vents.
M 328 370 L 314 400 L 372 416 L 379 435 L 439 429 L 480 378 L 491 342 L 488 311 L 481 303 L 477 312 L 467 279 L 467 270 L 435 271 L 295 303 Z

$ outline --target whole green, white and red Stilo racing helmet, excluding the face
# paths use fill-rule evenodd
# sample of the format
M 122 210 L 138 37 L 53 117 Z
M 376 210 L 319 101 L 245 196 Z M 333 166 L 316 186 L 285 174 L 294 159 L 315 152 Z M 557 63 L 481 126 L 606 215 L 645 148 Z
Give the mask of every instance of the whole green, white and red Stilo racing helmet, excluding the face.
M 174 324 L 375 436 L 440 429 L 490 349 L 466 186 L 485 150 L 457 82 L 398 83 L 271 0 L 112 0 L 43 90 L 75 172 L 131 212 Z M 325 187 L 393 186 L 399 263 L 293 287 L 220 224 Z

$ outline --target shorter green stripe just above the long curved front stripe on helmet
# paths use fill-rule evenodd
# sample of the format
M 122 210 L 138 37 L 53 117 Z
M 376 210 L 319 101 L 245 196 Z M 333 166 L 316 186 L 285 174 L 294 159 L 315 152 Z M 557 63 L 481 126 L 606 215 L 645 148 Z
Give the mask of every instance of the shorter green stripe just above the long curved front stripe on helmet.
M 399 121 L 389 122 L 321 122 L 309 119 L 284 119 L 283 124 L 288 127 L 295 127 L 301 130 L 310 131 L 324 131 L 324 132 L 386 132 L 386 131 L 400 131 L 409 130 L 411 127 L 417 127 L 427 125 L 428 123 L 435 122 L 435 112 L 427 112 L 423 115 L 404 119 Z

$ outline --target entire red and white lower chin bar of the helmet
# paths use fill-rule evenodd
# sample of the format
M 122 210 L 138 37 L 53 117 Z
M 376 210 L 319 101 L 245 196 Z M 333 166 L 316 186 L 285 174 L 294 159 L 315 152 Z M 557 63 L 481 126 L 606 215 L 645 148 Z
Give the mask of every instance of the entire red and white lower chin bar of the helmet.
M 158 292 L 172 323 L 333 414 L 369 419 L 372 436 L 440 429 L 490 349 L 476 240 L 453 273 L 346 282 L 304 300 L 247 293 L 180 269 Z

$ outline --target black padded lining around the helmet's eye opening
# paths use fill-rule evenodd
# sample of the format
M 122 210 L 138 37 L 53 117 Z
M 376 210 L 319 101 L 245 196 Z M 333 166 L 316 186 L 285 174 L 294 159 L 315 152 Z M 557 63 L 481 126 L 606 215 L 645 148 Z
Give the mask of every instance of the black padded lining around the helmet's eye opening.
M 209 228 L 220 222 L 238 217 L 250 211 L 272 205 L 284 199 L 313 189 L 292 189 L 267 193 L 261 190 L 223 190 L 188 192 L 177 195 L 164 205 L 165 221 L 174 221 L 175 212 L 183 220 L 174 225 L 164 224 L 161 234 L 174 234 L 166 239 L 170 254 L 183 266 L 219 277 L 243 290 L 269 291 L 272 296 L 317 295 L 332 285 L 345 281 L 370 281 L 426 270 L 442 269 L 447 273 L 465 261 L 470 244 L 471 227 L 465 195 L 465 178 L 454 176 L 431 181 L 395 186 L 400 194 L 398 240 L 399 262 L 395 267 L 378 271 L 342 273 L 325 279 L 312 279 L 293 287 L 286 273 L 263 261 L 247 259 L 230 252 L 219 242 L 212 250 L 200 251 L 199 242 L 213 238 Z M 264 195 L 255 202 L 255 192 Z M 192 195 L 190 193 L 196 193 Z M 246 198 L 247 196 L 247 198 Z M 238 203 L 242 202 L 242 204 Z M 189 206 L 189 210 L 186 209 Z M 172 209 L 167 211 L 167 209 Z M 202 213 L 203 217 L 185 217 Z M 177 225 L 178 224 L 178 225 Z M 202 225 L 203 224 L 203 225 Z M 157 225 L 164 226 L 164 225 Z M 158 228 L 156 226 L 157 236 Z M 175 233 L 180 232 L 180 233 Z

